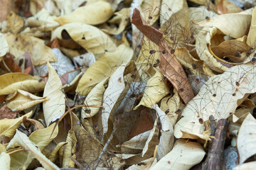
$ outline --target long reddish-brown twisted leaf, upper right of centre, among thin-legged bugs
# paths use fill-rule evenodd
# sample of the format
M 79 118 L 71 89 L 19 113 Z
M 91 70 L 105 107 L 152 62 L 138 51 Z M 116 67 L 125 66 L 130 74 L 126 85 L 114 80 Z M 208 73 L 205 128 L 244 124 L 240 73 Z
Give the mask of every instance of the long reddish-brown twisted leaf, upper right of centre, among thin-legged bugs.
M 189 84 L 188 77 L 186 77 L 183 67 L 178 62 L 175 55 L 173 55 L 174 52 L 171 52 L 166 45 L 163 34 L 159 30 L 156 30 L 156 28 L 149 26 L 142 16 L 140 16 L 140 12 L 137 8 L 134 8 L 132 23 L 137 26 L 149 40 L 159 46 L 159 52 L 161 52 L 161 73 L 169 79 L 185 103 L 191 101 L 194 94 Z

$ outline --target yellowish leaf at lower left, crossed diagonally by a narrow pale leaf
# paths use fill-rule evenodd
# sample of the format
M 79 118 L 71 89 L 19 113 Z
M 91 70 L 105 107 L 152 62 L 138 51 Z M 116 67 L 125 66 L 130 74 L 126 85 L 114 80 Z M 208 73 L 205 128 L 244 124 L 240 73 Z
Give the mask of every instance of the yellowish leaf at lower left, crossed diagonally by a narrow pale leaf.
M 36 130 L 28 137 L 29 140 L 31 140 L 31 142 L 33 142 L 40 151 L 42 151 L 57 136 L 58 128 L 55 128 L 53 131 L 54 125 L 55 124 L 50 125 L 48 128 Z M 51 135 L 52 132 L 53 135 Z M 31 164 L 34 158 L 35 157 L 30 157 L 28 152 L 13 153 L 11 154 L 11 169 L 21 169 L 23 166 L 28 166 Z

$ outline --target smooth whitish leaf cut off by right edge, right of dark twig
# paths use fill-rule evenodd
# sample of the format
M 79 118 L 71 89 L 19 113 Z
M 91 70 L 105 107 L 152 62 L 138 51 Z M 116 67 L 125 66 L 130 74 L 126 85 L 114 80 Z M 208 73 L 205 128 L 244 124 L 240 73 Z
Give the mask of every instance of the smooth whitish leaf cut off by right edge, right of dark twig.
M 245 120 L 243 120 L 238 132 L 238 153 L 240 164 L 244 163 L 246 159 L 256 154 L 256 147 L 254 145 L 254 141 L 256 140 L 255 128 L 256 120 L 251 114 L 248 114 Z

